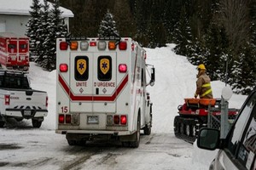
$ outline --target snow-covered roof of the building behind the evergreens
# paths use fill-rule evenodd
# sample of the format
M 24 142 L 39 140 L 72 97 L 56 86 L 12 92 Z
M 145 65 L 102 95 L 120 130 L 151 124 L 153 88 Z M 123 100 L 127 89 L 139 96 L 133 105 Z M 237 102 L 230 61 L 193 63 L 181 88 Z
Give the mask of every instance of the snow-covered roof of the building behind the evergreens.
M 44 0 L 39 0 L 41 4 L 44 4 Z M 30 15 L 32 0 L 0 0 L 0 14 L 15 14 L 15 15 Z M 52 8 L 52 4 L 49 4 L 49 8 Z M 62 17 L 73 17 L 73 12 L 67 8 L 60 7 Z

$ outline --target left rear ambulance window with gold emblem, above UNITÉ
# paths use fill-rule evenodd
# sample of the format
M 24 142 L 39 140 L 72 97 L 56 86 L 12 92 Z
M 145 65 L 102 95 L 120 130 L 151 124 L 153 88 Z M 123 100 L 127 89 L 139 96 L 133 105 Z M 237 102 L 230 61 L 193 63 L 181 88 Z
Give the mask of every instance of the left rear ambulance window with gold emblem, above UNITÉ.
M 89 59 L 87 56 L 76 56 L 74 74 L 75 74 L 75 79 L 77 81 L 88 80 Z

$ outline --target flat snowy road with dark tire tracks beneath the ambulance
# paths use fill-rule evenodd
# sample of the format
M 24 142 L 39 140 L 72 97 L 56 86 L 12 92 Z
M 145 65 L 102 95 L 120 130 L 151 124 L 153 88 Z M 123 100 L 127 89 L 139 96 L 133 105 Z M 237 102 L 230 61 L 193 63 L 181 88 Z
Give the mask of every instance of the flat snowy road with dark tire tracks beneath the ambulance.
M 34 129 L 29 123 L 1 129 L 0 133 L 8 134 L 0 143 L 0 169 L 5 170 L 191 169 L 180 167 L 183 161 L 189 161 L 193 146 L 176 139 L 173 133 L 142 135 L 138 149 L 106 141 L 69 146 L 64 135 Z

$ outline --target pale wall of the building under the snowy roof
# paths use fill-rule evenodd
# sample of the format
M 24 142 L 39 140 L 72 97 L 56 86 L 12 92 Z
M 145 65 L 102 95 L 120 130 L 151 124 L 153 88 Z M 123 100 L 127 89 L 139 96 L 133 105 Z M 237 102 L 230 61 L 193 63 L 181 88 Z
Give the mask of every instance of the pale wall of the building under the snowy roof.
M 0 14 L 0 32 L 14 32 L 17 35 L 24 36 L 29 18 L 29 15 Z M 65 18 L 64 20 L 69 31 L 69 20 L 68 18 Z

